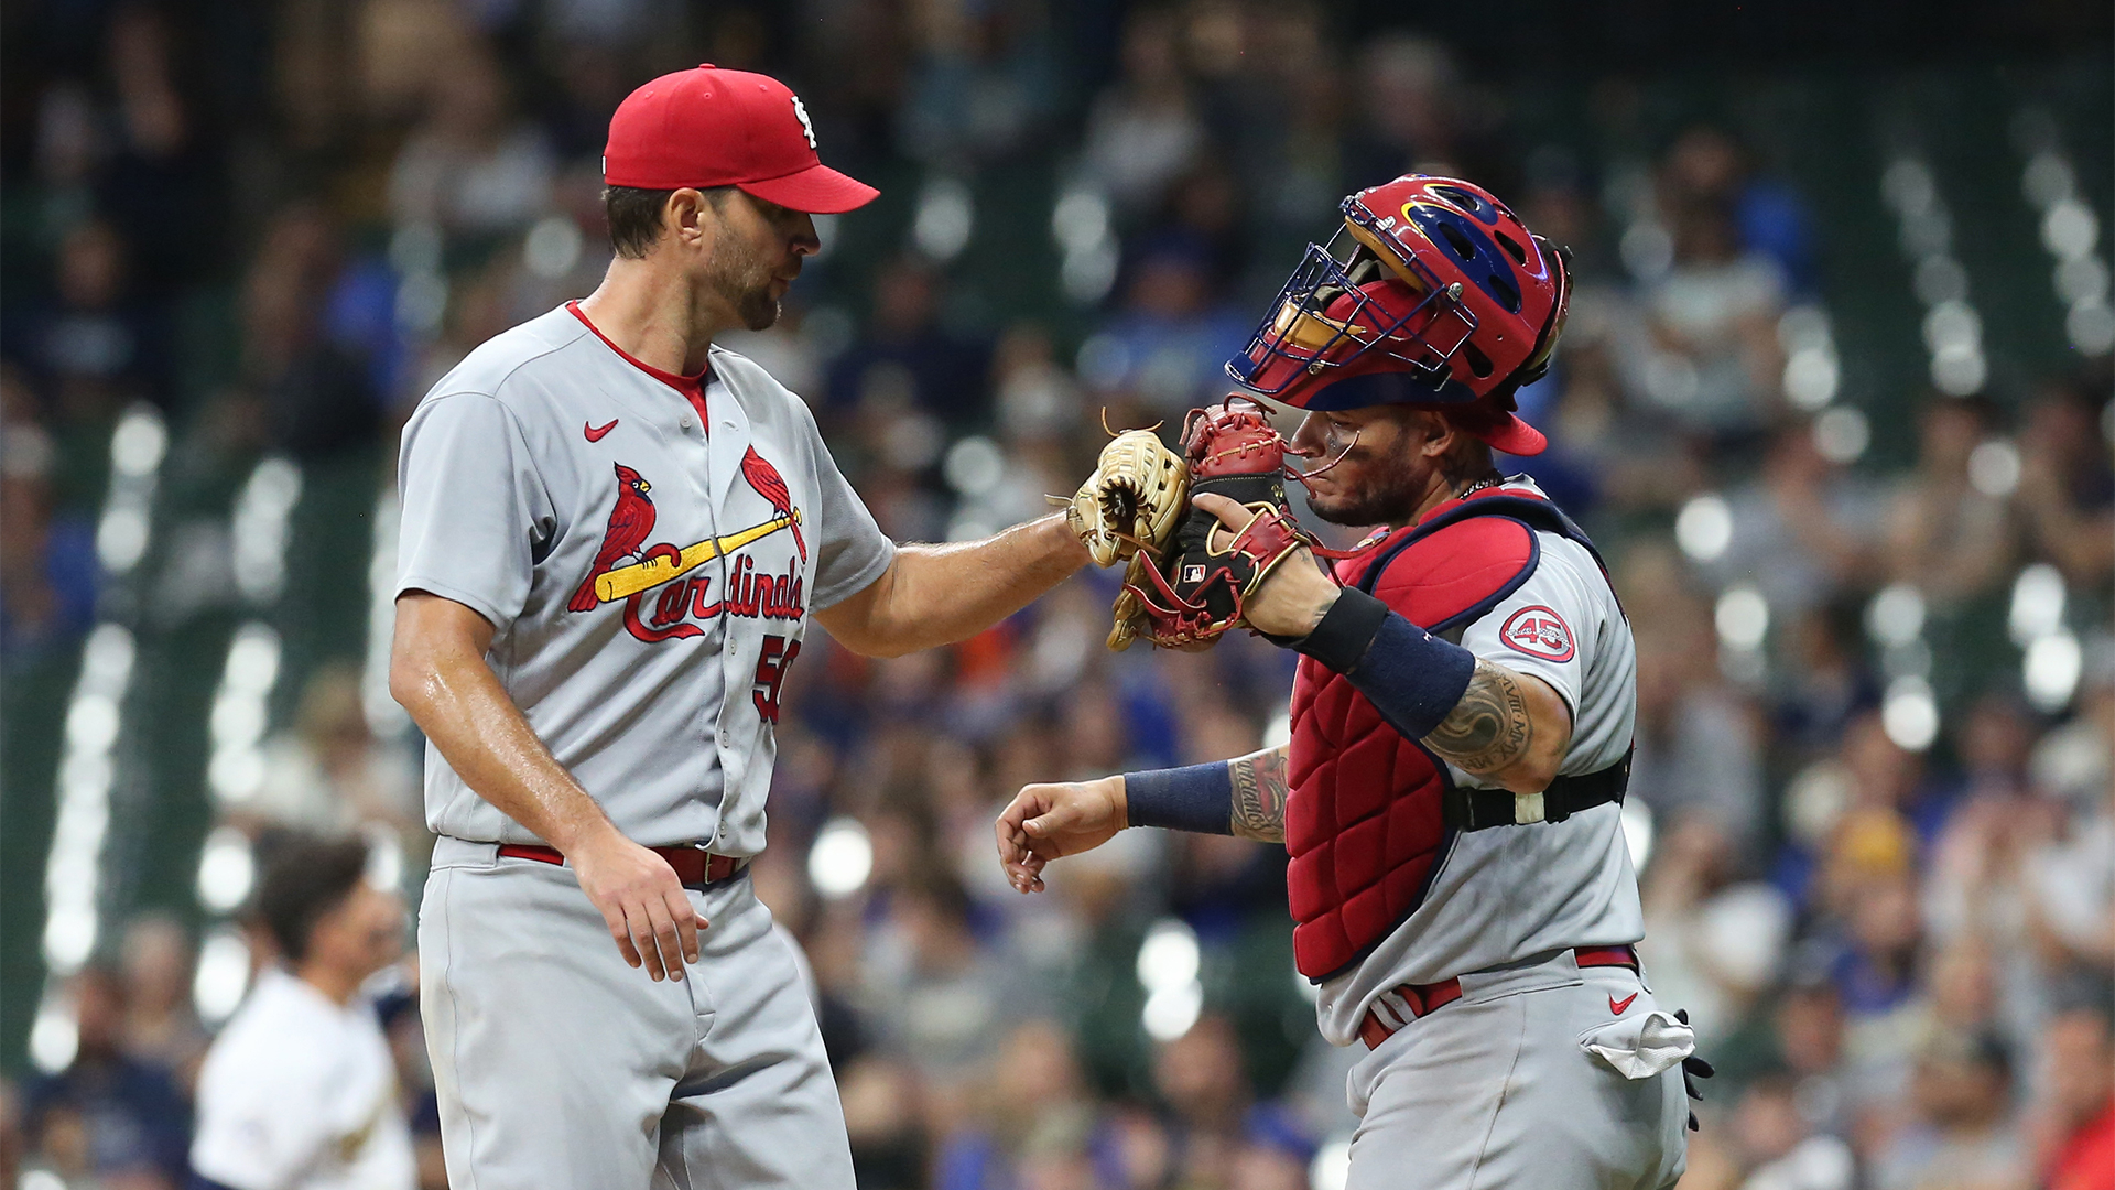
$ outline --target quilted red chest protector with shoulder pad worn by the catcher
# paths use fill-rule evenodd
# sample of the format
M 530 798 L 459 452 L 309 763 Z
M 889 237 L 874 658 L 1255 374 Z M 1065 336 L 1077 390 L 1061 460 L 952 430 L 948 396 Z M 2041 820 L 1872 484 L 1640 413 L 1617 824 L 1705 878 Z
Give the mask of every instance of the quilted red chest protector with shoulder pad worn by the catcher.
M 1358 557 L 1337 580 L 1434 635 L 1510 595 L 1540 561 L 1533 527 L 1586 542 L 1548 500 L 1491 489 L 1442 504 Z M 1447 764 L 1381 720 L 1343 675 L 1303 656 L 1292 680 L 1286 889 L 1292 955 L 1322 982 L 1362 959 L 1426 898 L 1451 847 L 1440 817 Z

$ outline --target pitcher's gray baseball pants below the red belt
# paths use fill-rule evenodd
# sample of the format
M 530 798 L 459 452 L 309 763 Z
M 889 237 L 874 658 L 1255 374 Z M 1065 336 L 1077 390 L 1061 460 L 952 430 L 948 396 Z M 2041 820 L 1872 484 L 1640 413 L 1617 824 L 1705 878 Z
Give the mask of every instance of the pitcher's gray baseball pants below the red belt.
M 747 879 L 692 891 L 681 980 L 618 955 L 571 868 L 442 836 L 419 995 L 455 1190 L 852 1190 L 844 1110 Z

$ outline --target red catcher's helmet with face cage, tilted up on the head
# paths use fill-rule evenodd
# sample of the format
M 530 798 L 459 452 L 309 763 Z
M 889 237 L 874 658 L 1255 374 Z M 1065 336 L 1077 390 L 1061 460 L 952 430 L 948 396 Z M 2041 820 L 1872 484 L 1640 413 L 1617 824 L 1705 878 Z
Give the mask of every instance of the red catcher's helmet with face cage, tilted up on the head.
M 1406 174 L 1343 201 L 1227 375 L 1294 409 L 1483 402 L 1478 438 L 1533 455 L 1512 394 L 1542 379 L 1571 301 L 1569 254 L 1472 182 Z

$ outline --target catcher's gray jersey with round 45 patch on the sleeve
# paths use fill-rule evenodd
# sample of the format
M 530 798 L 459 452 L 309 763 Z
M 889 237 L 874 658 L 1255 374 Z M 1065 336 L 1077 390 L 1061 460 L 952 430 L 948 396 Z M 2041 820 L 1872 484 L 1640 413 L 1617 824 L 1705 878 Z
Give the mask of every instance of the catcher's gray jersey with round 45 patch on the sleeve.
M 1542 495 L 1527 476 L 1504 491 Z M 1637 720 L 1637 652 L 1616 593 L 1586 546 L 1535 531 L 1540 563 L 1527 580 L 1461 631 L 1461 648 L 1550 684 L 1571 709 L 1561 775 L 1622 760 Z M 1447 767 L 1457 786 L 1493 781 Z M 1381 991 L 1440 982 L 1567 946 L 1612 946 L 1645 936 L 1637 875 L 1622 839 L 1622 807 L 1599 805 L 1565 822 L 1453 834 L 1438 872 L 1404 919 L 1356 968 L 1328 980 L 1316 1006 L 1322 1035 L 1358 1042 Z

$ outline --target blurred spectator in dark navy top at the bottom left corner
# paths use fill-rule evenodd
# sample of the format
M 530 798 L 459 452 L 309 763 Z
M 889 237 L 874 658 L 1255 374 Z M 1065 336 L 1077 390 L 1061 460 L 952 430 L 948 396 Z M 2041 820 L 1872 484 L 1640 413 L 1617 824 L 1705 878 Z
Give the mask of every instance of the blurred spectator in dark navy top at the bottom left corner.
M 30 1150 L 68 1184 L 125 1190 L 186 1186 L 190 1110 L 169 1071 L 125 1048 L 125 972 L 89 963 L 68 980 L 74 1061 L 23 1086 Z

